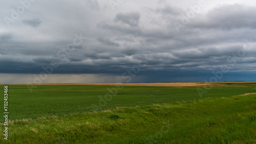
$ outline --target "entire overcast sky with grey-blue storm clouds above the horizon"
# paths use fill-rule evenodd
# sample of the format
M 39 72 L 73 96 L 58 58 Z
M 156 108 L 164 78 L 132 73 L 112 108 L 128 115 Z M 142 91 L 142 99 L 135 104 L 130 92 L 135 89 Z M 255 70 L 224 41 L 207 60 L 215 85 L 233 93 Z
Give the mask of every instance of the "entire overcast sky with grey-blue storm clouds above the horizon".
M 256 81 L 256 1 L 0 7 L 0 84 Z

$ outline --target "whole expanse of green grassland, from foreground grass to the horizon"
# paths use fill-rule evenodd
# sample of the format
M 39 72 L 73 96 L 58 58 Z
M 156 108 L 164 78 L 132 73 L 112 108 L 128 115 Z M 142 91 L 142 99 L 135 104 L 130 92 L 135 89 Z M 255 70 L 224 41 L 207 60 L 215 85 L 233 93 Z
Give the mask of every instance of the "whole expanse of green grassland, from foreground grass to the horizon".
M 256 83 L 215 83 L 203 98 L 199 87 L 124 86 L 110 96 L 115 87 L 8 85 L 0 142 L 256 143 L 256 94 L 241 95 Z

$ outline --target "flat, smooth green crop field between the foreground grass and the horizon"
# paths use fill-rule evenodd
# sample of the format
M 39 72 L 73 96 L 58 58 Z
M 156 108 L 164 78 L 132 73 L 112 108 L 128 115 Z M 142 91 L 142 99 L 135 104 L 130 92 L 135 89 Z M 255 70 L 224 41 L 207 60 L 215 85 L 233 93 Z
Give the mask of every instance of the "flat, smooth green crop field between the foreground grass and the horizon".
M 250 87 L 212 87 L 203 95 L 203 98 L 230 97 L 255 92 L 255 86 L 256 84 L 251 84 Z M 115 86 L 40 85 L 30 93 L 26 90 L 28 89 L 26 85 L 9 85 L 9 119 L 61 116 L 115 107 L 146 106 L 201 99 L 197 87 L 125 86 L 118 90 L 118 94 L 105 106 L 99 105 L 99 97 L 104 98 L 104 95 L 109 93 L 108 88 L 113 87 Z M 0 91 L 1 94 L 3 92 L 4 90 Z M 0 99 L 0 103 L 3 101 L 4 99 Z M 97 107 L 93 107 L 92 104 Z M 0 119 L 0 122 L 3 122 L 3 119 Z

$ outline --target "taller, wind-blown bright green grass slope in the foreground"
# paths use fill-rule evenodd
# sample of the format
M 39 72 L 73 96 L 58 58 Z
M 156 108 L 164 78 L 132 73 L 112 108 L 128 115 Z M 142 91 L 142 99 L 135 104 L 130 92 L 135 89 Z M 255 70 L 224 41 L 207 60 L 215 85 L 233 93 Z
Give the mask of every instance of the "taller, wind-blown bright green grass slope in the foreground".
M 9 143 L 255 143 L 255 129 L 252 94 L 16 120 Z

